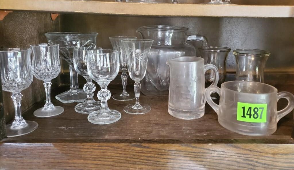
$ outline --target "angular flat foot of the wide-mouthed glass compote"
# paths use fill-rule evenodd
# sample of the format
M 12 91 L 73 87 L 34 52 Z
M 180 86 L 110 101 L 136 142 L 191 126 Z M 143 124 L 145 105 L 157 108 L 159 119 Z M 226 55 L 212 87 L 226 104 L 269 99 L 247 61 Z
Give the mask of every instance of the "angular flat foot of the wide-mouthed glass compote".
M 64 91 L 55 96 L 61 103 L 80 103 L 87 99 L 87 94 L 81 89 Z

